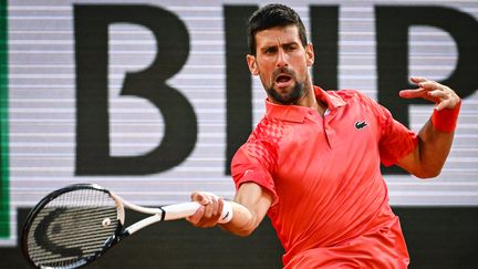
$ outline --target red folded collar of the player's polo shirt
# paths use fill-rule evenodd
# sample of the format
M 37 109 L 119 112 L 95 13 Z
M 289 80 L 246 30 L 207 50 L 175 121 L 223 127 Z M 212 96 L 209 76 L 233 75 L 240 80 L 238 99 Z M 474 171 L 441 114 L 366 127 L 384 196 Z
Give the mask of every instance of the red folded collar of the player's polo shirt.
M 315 99 L 328 104 L 329 111 L 334 111 L 340 106 L 344 106 L 345 101 L 336 94 L 335 91 L 325 92 L 319 86 L 314 86 Z M 301 105 L 281 105 L 274 104 L 266 100 L 266 117 L 278 118 L 282 121 L 303 123 L 305 116 L 313 110 Z

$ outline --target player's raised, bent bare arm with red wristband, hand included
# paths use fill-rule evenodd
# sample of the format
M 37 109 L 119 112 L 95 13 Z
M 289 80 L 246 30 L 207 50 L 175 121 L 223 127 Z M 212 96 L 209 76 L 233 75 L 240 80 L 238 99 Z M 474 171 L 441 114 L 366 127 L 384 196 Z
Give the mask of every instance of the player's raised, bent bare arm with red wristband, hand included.
M 455 91 L 435 81 L 424 77 L 411 77 L 411 81 L 418 89 L 401 91 L 402 97 L 425 99 L 436 105 L 432 118 L 418 133 L 418 145 L 397 165 L 420 178 L 436 177 L 451 148 L 461 100 Z

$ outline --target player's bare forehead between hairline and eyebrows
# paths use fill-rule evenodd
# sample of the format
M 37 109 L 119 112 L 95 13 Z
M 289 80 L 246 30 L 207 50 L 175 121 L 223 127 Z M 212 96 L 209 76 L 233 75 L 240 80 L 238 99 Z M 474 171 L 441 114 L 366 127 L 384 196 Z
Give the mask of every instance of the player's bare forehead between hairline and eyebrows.
M 258 46 L 292 42 L 300 43 L 299 29 L 294 24 L 274 27 L 256 33 L 256 43 Z

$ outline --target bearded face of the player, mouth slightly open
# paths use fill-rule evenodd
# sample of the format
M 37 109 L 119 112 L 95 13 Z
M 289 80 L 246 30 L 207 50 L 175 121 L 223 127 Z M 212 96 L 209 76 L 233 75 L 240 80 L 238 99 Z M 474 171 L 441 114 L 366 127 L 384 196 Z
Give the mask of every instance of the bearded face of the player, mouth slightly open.
M 310 86 L 308 68 L 313 64 L 313 49 L 305 48 L 295 25 L 277 27 L 256 33 L 256 56 L 248 55 L 249 70 L 259 75 L 269 99 L 295 104 Z

